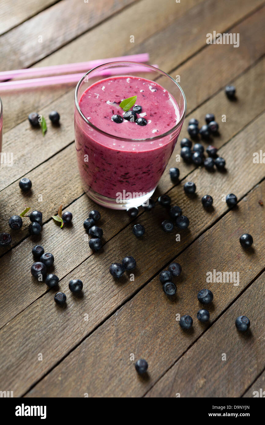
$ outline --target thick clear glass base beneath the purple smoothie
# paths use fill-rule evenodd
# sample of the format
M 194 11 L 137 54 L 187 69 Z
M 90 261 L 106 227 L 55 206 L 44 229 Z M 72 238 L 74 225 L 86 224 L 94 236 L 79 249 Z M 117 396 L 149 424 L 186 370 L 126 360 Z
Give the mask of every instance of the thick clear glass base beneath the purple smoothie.
M 144 196 L 138 196 L 137 198 L 131 199 L 114 199 L 108 198 L 107 196 L 100 195 L 100 193 L 95 192 L 92 189 L 86 191 L 89 198 L 92 201 L 97 202 L 97 204 L 102 205 L 106 208 L 111 208 L 112 210 L 129 210 L 132 207 L 140 207 L 144 202 L 146 202 L 153 195 L 156 187 L 151 192 L 147 193 Z

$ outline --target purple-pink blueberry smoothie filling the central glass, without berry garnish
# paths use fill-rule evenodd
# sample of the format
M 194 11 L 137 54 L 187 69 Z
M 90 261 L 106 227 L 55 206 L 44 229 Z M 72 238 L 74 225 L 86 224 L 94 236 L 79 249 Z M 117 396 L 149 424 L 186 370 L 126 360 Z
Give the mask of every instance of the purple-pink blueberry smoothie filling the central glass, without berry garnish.
M 142 107 L 137 117 L 144 117 L 148 124 L 140 126 L 125 119 L 122 123 L 114 122 L 113 115 L 124 114 L 120 102 L 134 95 L 135 105 Z M 180 121 L 180 110 L 171 94 L 148 79 L 109 77 L 88 87 L 79 106 L 90 123 L 108 133 L 89 126 L 75 110 L 77 161 L 88 194 L 93 190 L 116 199 L 124 191 L 133 197 L 154 191 L 180 133 L 178 128 L 167 136 L 150 140 Z

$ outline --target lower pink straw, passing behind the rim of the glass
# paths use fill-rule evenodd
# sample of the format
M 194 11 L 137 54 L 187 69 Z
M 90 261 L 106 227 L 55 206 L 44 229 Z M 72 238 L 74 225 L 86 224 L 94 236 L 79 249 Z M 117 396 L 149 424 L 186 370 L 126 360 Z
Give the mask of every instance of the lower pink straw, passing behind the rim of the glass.
M 152 65 L 155 68 L 158 68 L 158 65 Z M 151 72 L 150 68 L 146 68 L 144 72 Z M 117 74 L 126 74 L 134 73 L 134 72 L 143 72 L 142 67 L 140 66 L 124 66 L 120 68 L 109 68 L 102 71 L 95 72 L 95 75 L 102 75 L 104 77 L 111 77 L 111 75 Z M 9 91 L 9 90 L 17 90 L 21 88 L 34 88 L 41 87 L 47 85 L 59 85 L 59 84 L 67 84 L 67 83 L 77 83 L 82 77 L 84 73 L 81 74 L 65 74 L 65 75 L 56 75 L 53 77 L 42 77 L 42 78 L 33 78 L 33 79 L 24 79 L 24 80 L 14 80 L 14 81 L 6 81 L 0 82 L 0 92 Z

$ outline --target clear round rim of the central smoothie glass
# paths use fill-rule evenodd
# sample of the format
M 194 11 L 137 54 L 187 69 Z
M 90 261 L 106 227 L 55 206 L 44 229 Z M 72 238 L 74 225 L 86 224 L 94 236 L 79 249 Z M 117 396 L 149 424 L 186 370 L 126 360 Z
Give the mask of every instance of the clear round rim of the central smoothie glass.
M 176 125 L 174 125 L 174 127 L 171 127 L 171 129 L 170 130 L 168 130 L 167 132 L 165 132 L 165 133 L 162 133 L 162 134 L 160 134 L 160 135 L 158 135 L 158 136 L 153 136 L 153 137 L 148 137 L 148 138 L 145 138 L 145 139 L 127 139 L 127 138 L 125 138 L 125 137 L 120 137 L 120 136 L 115 136 L 114 134 L 110 134 L 110 133 L 106 133 L 104 130 L 101 130 L 100 128 L 98 128 L 96 125 L 94 125 L 94 124 L 92 124 L 84 115 L 83 115 L 83 113 L 82 113 L 82 111 L 80 110 L 80 107 L 79 107 L 79 103 L 78 103 L 78 98 L 77 98 L 77 95 L 78 95 L 78 90 L 79 90 L 79 88 L 80 88 L 80 85 L 82 84 L 82 82 L 83 82 L 83 80 L 85 79 L 85 77 L 87 77 L 89 74 L 91 74 L 91 72 L 94 72 L 95 70 L 97 70 L 97 69 L 100 69 L 100 68 L 103 68 L 103 67 L 105 67 L 106 65 L 117 65 L 118 63 L 120 63 L 120 64 L 130 64 L 130 65 L 141 65 L 141 66 L 144 66 L 144 67 L 146 67 L 146 68 L 150 68 L 150 69 L 152 69 L 152 70 L 154 70 L 154 71 L 158 71 L 158 72 L 160 72 L 161 74 L 163 74 L 165 77 L 168 77 L 169 79 L 171 79 L 173 82 L 174 82 L 174 84 L 177 86 L 177 88 L 180 90 L 180 94 L 182 95 L 182 98 L 183 98 L 183 100 L 184 100 L 184 109 L 183 109 L 183 113 L 182 113 L 182 115 L 181 115 L 181 117 L 180 117 L 180 119 L 179 119 L 179 121 L 177 122 L 177 124 Z M 76 108 L 77 108 L 77 111 L 79 112 L 79 114 L 80 114 L 80 116 L 81 116 L 81 118 L 88 124 L 88 125 L 91 125 L 91 127 L 93 127 L 95 130 L 97 130 L 97 131 L 99 131 L 100 133 L 102 133 L 102 134 L 104 134 L 105 136 L 108 136 L 108 137 L 114 137 L 115 139 L 117 139 L 117 140 L 122 140 L 122 141 L 124 141 L 124 142 L 148 142 L 148 141 L 153 141 L 153 140 L 157 140 L 157 139 L 162 139 L 163 137 L 165 137 L 165 136 L 168 136 L 169 134 L 171 134 L 171 133 L 173 133 L 173 131 L 174 130 L 177 130 L 177 128 L 178 127 L 180 127 L 181 125 L 182 125 L 182 123 L 183 123 L 183 121 L 184 121 L 184 118 L 185 118 L 185 114 L 186 114 L 186 109 L 187 109 L 187 101 L 186 101 L 186 97 L 185 97 L 185 94 L 184 94 L 184 92 L 183 92 L 183 90 L 182 90 L 182 88 L 180 87 L 180 85 L 177 83 L 177 81 L 175 81 L 174 80 L 174 78 L 172 78 L 170 75 L 168 75 L 166 72 L 164 72 L 164 71 L 162 71 L 160 68 L 155 68 L 154 66 L 152 66 L 152 65 L 146 65 L 146 64 L 144 64 L 144 63 L 140 63 L 140 62 L 132 62 L 132 61 L 117 61 L 117 62 L 106 62 L 106 63 L 104 63 L 103 65 L 98 65 L 98 66 L 96 66 L 95 68 L 92 68 L 90 71 L 88 71 L 88 72 L 86 72 L 84 75 L 83 75 L 83 77 L 80 79 L 80 81 L 77 83 L 77 86 L 76 86 L 76 88 L 75 88 L 75 91 L 74 91 L 74 103 L 75 103 L 75 106 L 76 106 Z

